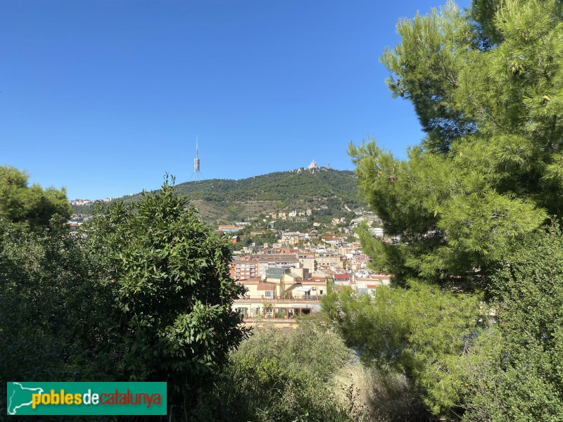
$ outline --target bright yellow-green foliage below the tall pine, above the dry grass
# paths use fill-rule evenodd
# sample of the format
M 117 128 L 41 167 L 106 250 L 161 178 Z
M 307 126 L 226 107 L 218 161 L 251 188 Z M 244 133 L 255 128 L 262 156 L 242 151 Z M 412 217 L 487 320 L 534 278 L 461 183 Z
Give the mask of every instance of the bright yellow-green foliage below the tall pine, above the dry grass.
M 479 296 L 411 281 L 407 289 L 381 286 L 374 298 L 331 291 L 322 305 L 365 364 L 404 373 L 436 416 L 460 410 L 465 354 L 486 330 Z

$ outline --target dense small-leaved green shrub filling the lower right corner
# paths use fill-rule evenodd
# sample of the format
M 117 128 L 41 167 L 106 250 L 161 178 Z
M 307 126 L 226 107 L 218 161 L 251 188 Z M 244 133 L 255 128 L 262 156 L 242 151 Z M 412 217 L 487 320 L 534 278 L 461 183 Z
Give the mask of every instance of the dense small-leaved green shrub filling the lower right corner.
M 528 236 L 492 277 L 498 327 L 467 362 L 467 421 L 563 415 L 563 236 Z

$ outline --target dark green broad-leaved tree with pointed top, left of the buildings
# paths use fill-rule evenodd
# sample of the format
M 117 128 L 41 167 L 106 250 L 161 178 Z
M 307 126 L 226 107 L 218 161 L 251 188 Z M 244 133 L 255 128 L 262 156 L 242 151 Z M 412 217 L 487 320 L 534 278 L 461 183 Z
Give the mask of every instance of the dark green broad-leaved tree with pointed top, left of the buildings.
M 229 244 L 168 181 L 134 205 L 102 207 L 85 233 L 101 283 L 115 295 L 118 371 L 167 381 L 176 402 L 194 397 L 246 335 L 232 311 L 245 289 L 229 276 Z

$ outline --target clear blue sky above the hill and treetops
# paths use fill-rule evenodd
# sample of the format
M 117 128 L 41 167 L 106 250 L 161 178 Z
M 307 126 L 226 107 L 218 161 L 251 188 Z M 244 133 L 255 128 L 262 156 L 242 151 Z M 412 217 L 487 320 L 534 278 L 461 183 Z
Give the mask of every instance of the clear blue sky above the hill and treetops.
M 0 165 L 68 198 L 320 165 L 422 139 L 379 63 L 441 3 L 0 0 Z M 462 6 L 467 6 L 467 2 Z

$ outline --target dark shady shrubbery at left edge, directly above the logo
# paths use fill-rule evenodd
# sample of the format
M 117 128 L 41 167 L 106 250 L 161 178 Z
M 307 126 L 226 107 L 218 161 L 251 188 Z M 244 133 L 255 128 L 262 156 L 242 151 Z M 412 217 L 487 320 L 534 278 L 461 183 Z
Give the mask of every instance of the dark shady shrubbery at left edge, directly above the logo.
M 0 373 L 6 381 L 112 381 L 113 298 L 61 217 L 0 218 Z M 0 395 L 0 404 L 6 393 Z

